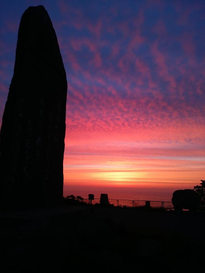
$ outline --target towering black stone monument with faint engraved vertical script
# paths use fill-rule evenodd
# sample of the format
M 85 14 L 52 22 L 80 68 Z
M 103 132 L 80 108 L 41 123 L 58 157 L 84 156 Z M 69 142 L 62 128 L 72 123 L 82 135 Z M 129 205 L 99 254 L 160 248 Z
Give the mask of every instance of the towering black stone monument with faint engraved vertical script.
M 27 207 L 63 199 L 67 80 L 46 9 L 22 15 L 14 74 L 0 133 L 1 203 Z

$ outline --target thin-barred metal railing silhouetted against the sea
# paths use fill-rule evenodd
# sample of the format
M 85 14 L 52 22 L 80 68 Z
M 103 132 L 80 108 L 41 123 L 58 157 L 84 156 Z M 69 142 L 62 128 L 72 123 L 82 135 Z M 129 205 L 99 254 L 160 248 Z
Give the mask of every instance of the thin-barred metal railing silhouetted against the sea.
M 108 199 L 110 204 L 115 207 L 152 207 L 152 208 L 163 208 L 166 210 L 172 210 L 173 204 L 169 201 L 148 201 L 148 200 L 127 200 L 127 199 Z M 89 203 L 88 198 L 83 200 Z M 92 200 L 92 204 L 99 204 L 100 198 L 95 198 Z

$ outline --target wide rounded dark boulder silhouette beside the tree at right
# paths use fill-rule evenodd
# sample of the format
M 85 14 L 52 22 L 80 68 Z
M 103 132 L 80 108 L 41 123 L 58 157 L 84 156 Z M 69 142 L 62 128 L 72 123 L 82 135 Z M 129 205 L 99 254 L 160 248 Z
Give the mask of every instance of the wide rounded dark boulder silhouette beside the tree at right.
M 173 192 L 172 204 L 174 209 L 178 211 L 182 209 L 196 211 L 200 204 L 200 196 L 194 190 L 190 189 L 175 190 Z

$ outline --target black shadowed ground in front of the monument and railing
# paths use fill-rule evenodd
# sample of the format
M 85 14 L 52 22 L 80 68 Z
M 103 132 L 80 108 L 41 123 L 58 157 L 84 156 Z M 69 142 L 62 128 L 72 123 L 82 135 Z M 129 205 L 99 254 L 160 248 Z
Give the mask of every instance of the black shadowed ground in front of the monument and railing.
M 203 272 L 205 267 L 203 213 L 68 206 L 0 217 L 1 272 Z

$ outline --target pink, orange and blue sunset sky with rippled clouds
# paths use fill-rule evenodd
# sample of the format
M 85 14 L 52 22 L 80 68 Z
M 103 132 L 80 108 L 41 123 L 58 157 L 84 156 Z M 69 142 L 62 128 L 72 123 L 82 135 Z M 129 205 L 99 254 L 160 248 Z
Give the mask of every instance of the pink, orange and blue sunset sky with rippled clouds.
M 204 1 L 0 1 L 0 122 L 22 13 L 44 5 L 68 91 L 64 195 L 170 201 L 205 174 Z

